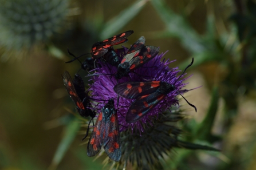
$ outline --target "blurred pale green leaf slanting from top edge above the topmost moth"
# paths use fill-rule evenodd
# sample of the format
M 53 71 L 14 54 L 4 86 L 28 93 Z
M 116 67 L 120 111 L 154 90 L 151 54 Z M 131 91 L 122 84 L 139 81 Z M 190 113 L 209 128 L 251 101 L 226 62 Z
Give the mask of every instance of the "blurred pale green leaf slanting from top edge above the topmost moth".
M 111 37 L 111 35 L 117 33 L 122 27 L 124 27 L 132 18 L 134 18 L 139 11 L 144 7 L 148 0 L 138 0 L 132 6 L 121 11 L 119 15 L 108 21 L 104 29 L 101 31 L 100 38 L 105 39 Z

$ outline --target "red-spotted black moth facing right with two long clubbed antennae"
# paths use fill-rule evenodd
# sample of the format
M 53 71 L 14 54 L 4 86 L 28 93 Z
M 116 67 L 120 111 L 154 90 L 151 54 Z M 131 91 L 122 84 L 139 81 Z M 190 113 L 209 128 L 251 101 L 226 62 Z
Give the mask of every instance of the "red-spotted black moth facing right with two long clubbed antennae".
M 194 58 L 187 68 L 189 68 L 193 62 Z M 184 72 L 187 70 L 187 68 L 184 70 Z M 179 76 L 179 78 L 184 74 L 184 72 Z M 179 78 L 176 80 L 176 82 L 179 80 Z M 176 82 L 174 84 L 170 84 L 164 81 L 144 81 L 123 82 L 121 84 L 117 84 L 114 87 L 117 94 L 124 98 L 136 99 L 129 107 L 125 120 L 129 123 L 136 122 L 140 120 L 140 118 L 147 115 L 147 113 L 157 104 L 159 104 L 159 102 L 162 101 L 168 93 L 174 90 L 179 93 L 178 89 L 175 87 Z M 182 94 L 180 95 L 182 96 Z M 184 99 L 186 100 L 186 98 Z M 196 107 L 194 105 L 190 104 L 188 101 L 187 103 L 195 108 L 196 111 Z

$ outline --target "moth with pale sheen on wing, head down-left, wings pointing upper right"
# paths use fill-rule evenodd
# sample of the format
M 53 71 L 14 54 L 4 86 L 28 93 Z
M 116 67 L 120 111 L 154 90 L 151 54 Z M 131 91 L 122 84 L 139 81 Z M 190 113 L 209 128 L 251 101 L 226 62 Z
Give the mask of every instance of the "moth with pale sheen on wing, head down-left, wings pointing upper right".
M 130 72 L 139 68 L 159 53 L 156 46 L 145 46 L 145 38 L 140 37 L 135 44 L 131 46 L 123 60 L 117 67 L 116 79 L 128 76 Z

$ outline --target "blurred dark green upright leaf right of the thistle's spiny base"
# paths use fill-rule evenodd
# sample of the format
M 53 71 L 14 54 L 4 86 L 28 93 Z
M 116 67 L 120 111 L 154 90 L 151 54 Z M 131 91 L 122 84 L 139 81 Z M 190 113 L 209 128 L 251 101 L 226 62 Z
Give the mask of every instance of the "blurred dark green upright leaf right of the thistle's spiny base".
M 212 90 L 212 95 L 211 95 L 211 104 L 208 108 L 208 112 L 206 114 L 206 117 L 204 117 L 204 120 L 198 125 L 198 127 L 195 129 L 195 136 L 196 139 L 199 140 L 205 140 L 210 143 L 214 142 L 211 135 L 211 129 L 214 124 L 216 112 L 218 109 L 218 100 L 219 100 L 219 92 L 218 92 L 218 87 L 214 87 Z

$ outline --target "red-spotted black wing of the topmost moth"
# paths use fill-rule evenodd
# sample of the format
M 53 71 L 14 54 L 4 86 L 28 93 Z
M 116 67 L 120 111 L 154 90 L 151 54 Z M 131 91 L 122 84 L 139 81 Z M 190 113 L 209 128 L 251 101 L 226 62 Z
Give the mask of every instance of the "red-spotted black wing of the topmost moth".
M 92 54 L 92 58 L 100 58 L 106 54 L 113 45 L 119 45 L 123 42 L 127 42 L 129 35 L 133 33 L 133 30 L 125 31 L 124 33 L 115 35 L 111 38 L 105 39 L 101 42 L 96 42 L 92 45 L 92 49 L 90 50 L 90 54 Z

